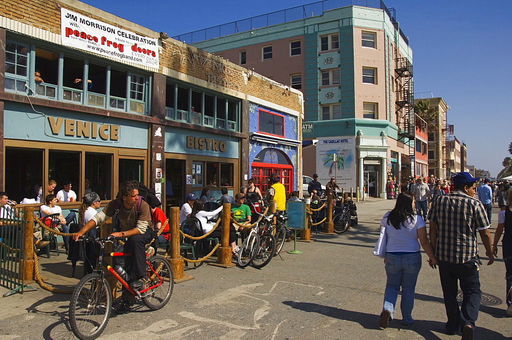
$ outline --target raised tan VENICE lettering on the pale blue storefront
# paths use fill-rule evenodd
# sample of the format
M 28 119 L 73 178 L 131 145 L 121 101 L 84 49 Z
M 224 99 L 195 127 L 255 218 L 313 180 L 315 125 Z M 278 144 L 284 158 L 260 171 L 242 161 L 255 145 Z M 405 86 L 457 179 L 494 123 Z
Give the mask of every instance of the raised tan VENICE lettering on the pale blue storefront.
M 64 127 L 64 134 L 68 137 L 86 138 L 103 141 L 119 142 L 119 125 L 99 124 L 74 119 L 48 117 L 48 124 L 54 136 L 59 135 Z

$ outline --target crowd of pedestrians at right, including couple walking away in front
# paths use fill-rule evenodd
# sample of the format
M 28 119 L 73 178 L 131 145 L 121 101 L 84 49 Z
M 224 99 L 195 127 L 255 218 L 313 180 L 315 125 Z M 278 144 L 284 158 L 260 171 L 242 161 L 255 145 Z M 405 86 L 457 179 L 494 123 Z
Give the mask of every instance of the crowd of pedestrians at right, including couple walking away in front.
M 446 311 L 446 333 L 460 332 L 463 340 L 473 339 L 482 291 L 477 234 L 485 247 L 487 265 L 502 251 L 506 268 L 507 315 L 512 316 L 512 190 L 508 183 L 495 184 L 468 172 L 453 174 L 449 180 L 422 177 L 412 180 L 408 191 L 398 195 L 395 208 L 381 222 L 381 236 L 374 254 L 385 258 L 387 284 L 379 326 L 387 328 L 393 318 L 397 293 L 402 290 L 402 325 L 414 322 L 414 290 L 421 268 L 420 245 L 429 265 L 439 270 Z M 498 228 L 494 241 L 489 232 L 493 202 L 498 202 Z M 428 214 L 426 204 L 430 202 Z M 414 214 L 414 208 L 416 214 Z M 429 221 L 429 239 L 425 220 Z M 380 252 L 379 252 L 380 250 Z M 382 257 L 381 256 L 381 257 Z M 462 305 L 457 301 L 458 286 Z

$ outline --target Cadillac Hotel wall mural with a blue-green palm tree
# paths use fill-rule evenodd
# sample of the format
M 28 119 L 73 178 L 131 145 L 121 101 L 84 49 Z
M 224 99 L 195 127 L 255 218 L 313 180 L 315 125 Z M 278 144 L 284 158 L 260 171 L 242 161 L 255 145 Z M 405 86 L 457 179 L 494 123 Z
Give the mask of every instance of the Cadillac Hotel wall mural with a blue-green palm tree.
M 318 181 L 327 184 L 331 177 L 345 191 L 356 190 L 356 150 L 354 136 L 318 138 L 316 145 Z M 336 154 L 336 161 L 334 161 Z

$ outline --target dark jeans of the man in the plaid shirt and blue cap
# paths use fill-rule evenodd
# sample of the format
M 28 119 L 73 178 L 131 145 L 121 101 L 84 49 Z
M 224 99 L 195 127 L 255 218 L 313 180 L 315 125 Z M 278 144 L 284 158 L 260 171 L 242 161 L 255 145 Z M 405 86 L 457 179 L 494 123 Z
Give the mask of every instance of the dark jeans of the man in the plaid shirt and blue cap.
M 439 277 L 443 288 L 444 308 L 446 309 L 446 331 L 454 333 L 465 325 L 475 328 L 482 291 L 476 260 L 465 263 L 439 261 Z M 457 302 L 458 286 L 462 289 L 462 306 Z

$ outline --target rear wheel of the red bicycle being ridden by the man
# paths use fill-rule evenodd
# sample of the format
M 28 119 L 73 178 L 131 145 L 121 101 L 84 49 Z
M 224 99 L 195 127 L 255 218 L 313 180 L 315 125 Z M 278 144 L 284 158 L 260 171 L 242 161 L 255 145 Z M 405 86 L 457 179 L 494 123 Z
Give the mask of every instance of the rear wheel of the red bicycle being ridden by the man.
M 150 265 L 146 265 L 147 277 L 149 278 L 146 287 L 160 284 L 160 278 L 162 279 L 162 284 L 144 292 L 142 302 L 147 308 L 157 310 L 165 306 L 173 294 L 173 271 L 170 269 L 169 261 L 163 256 L 152 256 L 147 262 L 151 264 L 156 274 L 153 273 Z

